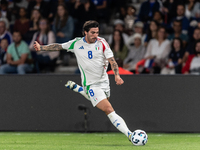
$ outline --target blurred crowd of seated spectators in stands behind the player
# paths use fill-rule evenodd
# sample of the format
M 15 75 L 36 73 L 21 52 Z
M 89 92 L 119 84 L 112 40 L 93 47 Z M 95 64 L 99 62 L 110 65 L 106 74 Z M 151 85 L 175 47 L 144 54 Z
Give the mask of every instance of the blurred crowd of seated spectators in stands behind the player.
M 87 20 L 100 23 L 120 74 L 200 74 L 200 0 L 1 0 L 0 74 L 69 65 L 73 54 L 35 52 L 34 41 L 82 37 Z

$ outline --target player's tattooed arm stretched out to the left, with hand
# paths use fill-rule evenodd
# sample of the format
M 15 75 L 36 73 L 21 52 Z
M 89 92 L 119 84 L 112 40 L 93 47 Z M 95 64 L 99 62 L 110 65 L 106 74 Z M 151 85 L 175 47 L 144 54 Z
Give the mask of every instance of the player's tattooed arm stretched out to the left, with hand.
M 49 45 L 40 45 L 37 41 L 34 42 L 33 47 L 36 51 L 59 51 L 62 50 L 61 44 L 49 44 Z

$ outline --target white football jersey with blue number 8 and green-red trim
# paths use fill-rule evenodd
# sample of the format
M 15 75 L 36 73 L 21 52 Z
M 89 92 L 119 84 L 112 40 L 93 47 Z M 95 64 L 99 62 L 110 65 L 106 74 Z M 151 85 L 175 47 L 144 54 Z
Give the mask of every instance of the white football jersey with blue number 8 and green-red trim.
M 85 37 L 75 38 L 63 43 L 62 47 L 75 54 L 83 86 L 108 80 L 107 59 L 113 57 L 113 52 L 104 38 L 98 37 L 91 44 L 85 41 Z

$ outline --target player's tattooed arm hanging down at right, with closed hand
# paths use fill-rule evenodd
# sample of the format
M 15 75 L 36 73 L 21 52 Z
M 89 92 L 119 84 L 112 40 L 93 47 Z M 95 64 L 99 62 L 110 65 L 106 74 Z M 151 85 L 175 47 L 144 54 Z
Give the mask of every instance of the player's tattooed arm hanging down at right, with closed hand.
M 109 61 L 111 68 L 114 72 L 116 84 L 122 85 L 124 83 L 124 81 L 122 80 L 122 78 L 119 75 L 119 68 L 118 68 L 117 62 L 115 61 L 114 57 L 109 58 L 108 61 Z

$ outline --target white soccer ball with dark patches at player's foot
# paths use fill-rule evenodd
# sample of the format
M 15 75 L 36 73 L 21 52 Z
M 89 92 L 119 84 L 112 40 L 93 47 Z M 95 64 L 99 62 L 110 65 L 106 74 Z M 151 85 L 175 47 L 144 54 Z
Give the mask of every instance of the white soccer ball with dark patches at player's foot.
M 148 141 L 148 136 L 143 130 L 135 130 L 131 135 L 131 142 L 136 145 L 145 145 Z

